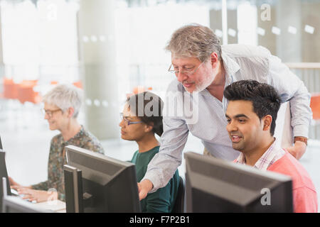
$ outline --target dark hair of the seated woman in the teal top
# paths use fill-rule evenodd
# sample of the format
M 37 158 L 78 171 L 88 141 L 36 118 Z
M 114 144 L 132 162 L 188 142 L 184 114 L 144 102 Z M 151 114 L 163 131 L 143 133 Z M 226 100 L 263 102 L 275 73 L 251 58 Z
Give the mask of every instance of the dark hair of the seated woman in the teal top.
M 127 104 L 132 114 L 138 116 L 147 125 L 153 123 L 152 131 L 159 136 L 162 135 L 164 132 L 162 124 L 164 101 L 159 96 L 151 92 L 134 94 L 127 98 Z

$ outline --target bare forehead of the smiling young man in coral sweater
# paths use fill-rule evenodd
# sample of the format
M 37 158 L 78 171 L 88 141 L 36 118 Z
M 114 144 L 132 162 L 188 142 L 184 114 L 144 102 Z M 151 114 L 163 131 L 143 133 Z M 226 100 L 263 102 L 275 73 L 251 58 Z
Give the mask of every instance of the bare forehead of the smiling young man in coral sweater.
M 245 114 L 246 116 L 250 116 L 255 114 L 253 111 L 252 101 L 246 100 L 236 100 L 229 101 L 226 114 L 230 117 L 236 116 L 238 114 Z

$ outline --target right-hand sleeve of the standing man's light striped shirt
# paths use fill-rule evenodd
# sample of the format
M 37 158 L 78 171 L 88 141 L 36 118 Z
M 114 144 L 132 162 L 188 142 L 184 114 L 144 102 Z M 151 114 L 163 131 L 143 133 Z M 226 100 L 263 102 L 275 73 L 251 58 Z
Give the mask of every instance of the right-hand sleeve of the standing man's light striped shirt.
M 290 102 L 292 114 L 291 126 L 294 136 L 304 136 L 308 138 L 309 124 L 312 119 L 310 108 L 311 96 L 296 74 L 284 65 L 279 57 L 270 55 L 269 57 L 269 78 L 270 84 L 279 93 L 282 102 Z

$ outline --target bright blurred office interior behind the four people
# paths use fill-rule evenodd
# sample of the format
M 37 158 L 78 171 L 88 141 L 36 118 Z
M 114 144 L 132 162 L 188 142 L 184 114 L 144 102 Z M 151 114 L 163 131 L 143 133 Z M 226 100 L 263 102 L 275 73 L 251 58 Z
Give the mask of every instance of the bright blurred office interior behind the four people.
M 118 126 L 127 95 L 164 97 L 174 79 L 164 47 L 177 28 L 200 23 L 223 45 L 268 48 L 304 81 L 314 119 L 301 161 L 319 194 L 319 12 L 320 0 L 0 0 L 0 135 L 9 175 L 22 184 L 46 179 L 59 132 L 49 131 L 41 96 L 62 83 L 84 90 L 78 120 L 105 154 L 130 160 L 137 145 L 121 140 Z M 203 145 L 190 135 L 186 150 L 202 153 Z

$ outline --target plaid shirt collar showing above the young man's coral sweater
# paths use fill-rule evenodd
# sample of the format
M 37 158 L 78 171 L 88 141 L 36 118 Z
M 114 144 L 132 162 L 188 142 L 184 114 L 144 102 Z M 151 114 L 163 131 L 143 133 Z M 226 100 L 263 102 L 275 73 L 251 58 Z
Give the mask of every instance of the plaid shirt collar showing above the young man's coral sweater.
M 280 148 L 279 145 L 277 145 L 277 140 L 274 140 L 270 148 L 268 148 L 268 150 L 266 150 L 266 152 L 260 157 L 260 159 L 255 162 L 254 167 L 258 170 L 267 170 L 270 165 L 279 160 L 284 154 L 285 151 Z M 243 153 L 240 153 L 235 162 L 245 165 L 245 155 L 243 155 Z

